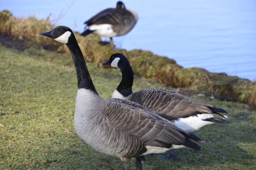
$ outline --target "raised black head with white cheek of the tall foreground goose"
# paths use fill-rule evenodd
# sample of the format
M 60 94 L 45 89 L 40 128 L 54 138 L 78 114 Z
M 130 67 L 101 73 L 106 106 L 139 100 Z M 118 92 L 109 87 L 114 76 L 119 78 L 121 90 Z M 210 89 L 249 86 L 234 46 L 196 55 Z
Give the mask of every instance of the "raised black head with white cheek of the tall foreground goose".
M 67 44 L 70 39 L 75 35 L 72 30 L 66 26 L 58 26 L 52 31 L 41 33 L 41 35 L 48 36 L 56 41 Z

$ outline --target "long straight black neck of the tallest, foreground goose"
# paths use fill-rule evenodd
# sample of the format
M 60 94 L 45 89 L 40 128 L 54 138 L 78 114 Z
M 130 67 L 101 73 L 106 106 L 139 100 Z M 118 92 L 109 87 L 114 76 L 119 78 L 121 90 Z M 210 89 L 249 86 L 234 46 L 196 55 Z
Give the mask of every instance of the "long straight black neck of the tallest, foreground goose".
M 75 35 L 71 35 L 69 37 L 68 43 L 66 45 L 72 55 L 76 67 L 78 89 L 88 89 L 98 94 L 92 83 L 92 79 L 90 77 L 82 55 L 82 51 L 77 43 Z

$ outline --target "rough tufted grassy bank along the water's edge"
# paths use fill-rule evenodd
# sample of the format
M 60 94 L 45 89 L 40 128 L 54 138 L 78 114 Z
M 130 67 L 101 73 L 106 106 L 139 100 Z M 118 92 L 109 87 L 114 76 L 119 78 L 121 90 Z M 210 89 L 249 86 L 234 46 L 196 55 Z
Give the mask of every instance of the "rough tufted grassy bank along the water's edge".
M 0 13 L 0 35 L 2 44 L 27 49 L 31 46 L 43 46 L 47 50 L 69 55 L 65 45 L 49 41 L 41 32 L 55 28 L 49 19 L 38 20 L 34 16 L 28 18 L 15 18 L 9 11 Z M 9 43 L 3 37 L 18 39 L 19 43 Z M 150 51 L 123 49 L 113 51 L 109 44 L 99 44 L 97 35 L 82 37 L 76 33 L 78 43 L 86 61 L 102 66 L 114 52 L 123 53 L 130 61 L 135 74 L 151 78 L 155 82 L 164 83 L 170 87 L 190 88 L 194 92 L 206 93 L 221 100 L 241 101 L 256 108 L 256 81 L 227 76 L 226 73 L 210 73 L 205 69 L 187 68 L 176 64 L 172 59 L 158 56 Z

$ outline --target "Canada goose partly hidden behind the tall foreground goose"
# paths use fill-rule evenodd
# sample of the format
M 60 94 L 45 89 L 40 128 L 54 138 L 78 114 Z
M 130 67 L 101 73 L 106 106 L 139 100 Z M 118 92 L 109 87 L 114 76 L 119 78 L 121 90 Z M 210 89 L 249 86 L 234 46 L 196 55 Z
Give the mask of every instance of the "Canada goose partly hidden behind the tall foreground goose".
M 190 133 L 208 124 L 229 123 L 227 120 L 212 115 L 212 113 L 215 113 L 224 117 L 218 112 L 227 113 L 226 110 L 190 99 L 178 92 L 160 88 L 149 88 L 133 92 L 133 70 L 128 59 L 123 54 L 112 54 L 109 60 L 103 64 L 117 67 L 122 72 L 122 80 L 114 91 L 112 98 L 130 100 L 145 106 Z M 158 156 L 172 160 L 176 155 L 170 150 L 170 156 Z

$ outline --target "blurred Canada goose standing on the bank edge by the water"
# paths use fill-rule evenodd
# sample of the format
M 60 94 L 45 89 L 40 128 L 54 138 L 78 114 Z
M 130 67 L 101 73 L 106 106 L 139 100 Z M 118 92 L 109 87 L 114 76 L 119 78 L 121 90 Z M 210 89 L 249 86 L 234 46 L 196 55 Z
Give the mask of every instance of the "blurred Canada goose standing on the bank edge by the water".
M 137 13 L 132 9 L 126 9 L 124 4 L 119 1 L 116 8 L 107 8 L 85 21 L 84 24 L 86 24 L 87 29 L 81 35 L 86 36 L 94 33 L 99 36 L 110 37 L 110 45 L 114 49 L 112 37 L 130 32 L 137 20 Z

